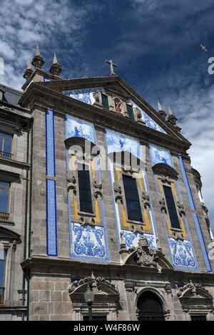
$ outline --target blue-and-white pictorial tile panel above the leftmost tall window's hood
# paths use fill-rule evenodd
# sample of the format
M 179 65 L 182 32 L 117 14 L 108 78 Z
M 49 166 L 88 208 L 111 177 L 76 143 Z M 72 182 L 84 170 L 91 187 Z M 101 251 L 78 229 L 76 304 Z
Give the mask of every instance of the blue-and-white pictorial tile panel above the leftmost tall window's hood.
M 79 120 L 78 118 L 73 118 L 71 116 L 66 116 L 65 125 L 66 138 L 80 137 L 96 143 L 95 130 L 91 123 Z

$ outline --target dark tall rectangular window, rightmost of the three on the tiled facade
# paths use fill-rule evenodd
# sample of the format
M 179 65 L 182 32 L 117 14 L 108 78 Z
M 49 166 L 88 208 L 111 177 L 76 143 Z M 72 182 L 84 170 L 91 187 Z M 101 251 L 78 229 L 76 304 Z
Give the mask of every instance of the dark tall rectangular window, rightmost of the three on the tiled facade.
M 178 220 L 178 213 L 175 207 L 175 201 L 173 198 L 173 192 L 171 187 L 163 185 L 165 194 L 165 201 L 168 208 L 168 215 L 170 217 L 171 227 L 180 229 L 180 222 Z

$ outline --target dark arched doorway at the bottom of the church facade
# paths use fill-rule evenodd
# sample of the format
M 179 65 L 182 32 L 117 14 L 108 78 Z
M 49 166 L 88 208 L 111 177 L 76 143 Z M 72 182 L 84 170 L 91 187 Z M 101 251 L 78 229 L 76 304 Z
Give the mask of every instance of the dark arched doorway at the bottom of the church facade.
M 163 306 L 156 294 L 144 292 L 138 298 L 138 321 L 165 321 Z

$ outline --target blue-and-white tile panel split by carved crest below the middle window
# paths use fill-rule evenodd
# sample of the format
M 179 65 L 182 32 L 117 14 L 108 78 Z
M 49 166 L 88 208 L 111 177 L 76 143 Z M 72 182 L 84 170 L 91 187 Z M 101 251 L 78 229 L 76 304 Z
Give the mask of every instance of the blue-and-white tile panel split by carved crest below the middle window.
M 133 232 L 128 232 L 127 230 L 122 230 L 123 239 L 126 242 L 126 249 L 131 247 L 137 247 L 138 241 L 141 238 L 141 234 L 133 234 Z M 153 234 L 143 234 L 146 239 L 148 239 L 148 247 L 155 250 L 157 249 L 157 244 Z

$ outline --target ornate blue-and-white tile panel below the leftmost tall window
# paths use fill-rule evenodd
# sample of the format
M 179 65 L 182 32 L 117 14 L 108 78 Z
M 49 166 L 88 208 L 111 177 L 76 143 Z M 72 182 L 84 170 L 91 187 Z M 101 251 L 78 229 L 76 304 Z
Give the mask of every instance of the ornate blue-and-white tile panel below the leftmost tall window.
M 103 227 L 82 227 L 71 223 L 70 227 L 71 257 L 76 259 L 91 259 L 108 261 Z

